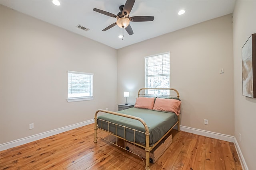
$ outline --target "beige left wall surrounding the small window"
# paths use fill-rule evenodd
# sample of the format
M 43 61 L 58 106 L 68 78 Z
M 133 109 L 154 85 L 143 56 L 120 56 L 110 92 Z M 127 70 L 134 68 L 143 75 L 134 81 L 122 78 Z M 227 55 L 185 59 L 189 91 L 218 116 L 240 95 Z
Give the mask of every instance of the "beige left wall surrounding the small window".
M 116 109 L 116 49 L 4 6 L 0 11 L 0 143 Z M 68 70 L 94 73 L 94 100 L 66 101 Z

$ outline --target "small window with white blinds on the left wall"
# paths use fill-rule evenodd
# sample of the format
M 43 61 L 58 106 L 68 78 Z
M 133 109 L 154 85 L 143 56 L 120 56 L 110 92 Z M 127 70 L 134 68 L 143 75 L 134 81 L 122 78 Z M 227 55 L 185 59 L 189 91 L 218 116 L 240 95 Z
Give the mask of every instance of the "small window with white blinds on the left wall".
M 68 102 L 93 100 L 92 73 L 68 71 Z

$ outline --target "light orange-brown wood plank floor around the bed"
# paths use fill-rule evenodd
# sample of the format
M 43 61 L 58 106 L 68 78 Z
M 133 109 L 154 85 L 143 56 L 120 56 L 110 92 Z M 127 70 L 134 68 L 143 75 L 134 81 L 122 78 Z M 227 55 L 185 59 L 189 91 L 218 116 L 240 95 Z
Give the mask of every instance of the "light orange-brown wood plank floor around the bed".
M 0 152 L 1 170 L 143 170 L 134 154 L 98 139 L 87 125 Z M 242 170 L 234 143 L 172 130 L 172 144 L 150 170 Z

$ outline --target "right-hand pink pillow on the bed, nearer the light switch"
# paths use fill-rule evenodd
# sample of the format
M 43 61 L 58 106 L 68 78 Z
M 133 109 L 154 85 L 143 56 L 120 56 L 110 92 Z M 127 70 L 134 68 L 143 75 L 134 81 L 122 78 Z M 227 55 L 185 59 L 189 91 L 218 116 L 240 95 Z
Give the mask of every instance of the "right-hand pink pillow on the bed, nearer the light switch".
M 164 99 L 164 98 L 156 98 L 153 109 L 160 111 L 169 111 L 173 112 L 176 115 L 180 114 L 180 100 L 176 99 Z

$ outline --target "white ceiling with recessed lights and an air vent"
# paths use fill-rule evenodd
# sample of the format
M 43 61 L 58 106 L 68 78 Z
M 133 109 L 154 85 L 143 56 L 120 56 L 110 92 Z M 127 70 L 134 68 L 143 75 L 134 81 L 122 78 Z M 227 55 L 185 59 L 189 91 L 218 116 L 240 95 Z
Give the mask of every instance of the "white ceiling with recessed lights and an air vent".
M 126 0 L 59 1 L 60 6 L 52 4 L 52 0 L 0 0 L 0 3 L 115 49 L 230 14 L 236 3 L 235 0 L 136 0 L 130 16 L 154 16 L 155 19 L 148 22 L 130 22 L 134 34 L 128 35 L 124 30 L 122 41 L 118 38 L 122 29 L 117 25 L 102 31 L 116 22 L 116 19 L 92 9 L 98 8 L 117 14 L 119 6 L 124 5 Z M 186 10 L 186 13 L 179 16 L 178 11 L 181 9 Z M 79 29 L 76 27 L 78 24 L 90 30 Z

